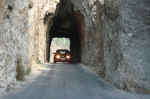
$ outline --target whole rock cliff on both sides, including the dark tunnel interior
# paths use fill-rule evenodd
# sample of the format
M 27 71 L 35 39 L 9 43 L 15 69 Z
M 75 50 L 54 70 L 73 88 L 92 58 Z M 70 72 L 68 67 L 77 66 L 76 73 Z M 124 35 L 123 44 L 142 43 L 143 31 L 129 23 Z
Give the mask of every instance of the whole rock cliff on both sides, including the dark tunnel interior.
M 14 82 L 5 78 L 15 79 L 18 56 L 26 70 L 49 62 L 52 39 L 66 37 L 75 63 L 119 89 L 150 93 L 149 0 L 0 1 L 4 85 Z

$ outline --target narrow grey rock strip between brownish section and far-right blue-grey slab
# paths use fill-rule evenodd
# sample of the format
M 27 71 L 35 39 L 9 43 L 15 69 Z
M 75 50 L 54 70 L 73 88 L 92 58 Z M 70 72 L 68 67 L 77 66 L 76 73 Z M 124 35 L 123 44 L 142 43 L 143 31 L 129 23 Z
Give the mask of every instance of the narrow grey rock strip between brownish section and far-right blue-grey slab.
M 117 87 L 123 87 L 121 71 L 117 71 L 123 60 L 120 44 L 120 0 L 105 0 L 103 33 L 104 33 L 104 66 L 105 79 Z M 118 87 L 118 88 L 119 88 Z

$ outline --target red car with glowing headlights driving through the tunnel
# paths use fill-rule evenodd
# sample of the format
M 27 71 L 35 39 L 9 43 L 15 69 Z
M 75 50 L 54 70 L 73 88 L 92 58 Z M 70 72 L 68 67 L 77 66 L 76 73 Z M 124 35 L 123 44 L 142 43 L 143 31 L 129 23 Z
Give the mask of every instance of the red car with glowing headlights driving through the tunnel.
M 54 53 L 54 63 L 56 62 L 71 62 L 71 52 L 67 49 L 58 49 Z

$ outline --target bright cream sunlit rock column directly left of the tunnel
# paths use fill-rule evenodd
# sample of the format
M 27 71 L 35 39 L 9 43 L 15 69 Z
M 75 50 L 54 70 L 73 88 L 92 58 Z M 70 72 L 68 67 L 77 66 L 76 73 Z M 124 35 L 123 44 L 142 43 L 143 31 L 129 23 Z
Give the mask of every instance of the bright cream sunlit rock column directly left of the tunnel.
M 46 61 L 46 46 L 47 46 L 47 30 L 48 23 L 52 16 L 48 14 L 54 14 L 56 5 L 59 0 L 32 0 L 33 7 L 29 10 L 29 23 L 30 23 L 30 57 L 32 62 L 40 61 L 44 63 Z M 47 19 L 45 19 L 47 18 Z

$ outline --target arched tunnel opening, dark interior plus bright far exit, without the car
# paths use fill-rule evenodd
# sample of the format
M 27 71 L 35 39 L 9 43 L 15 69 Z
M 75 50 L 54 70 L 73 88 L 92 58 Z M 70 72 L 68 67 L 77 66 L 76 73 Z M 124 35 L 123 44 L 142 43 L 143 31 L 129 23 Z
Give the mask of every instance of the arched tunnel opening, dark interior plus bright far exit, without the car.
M 60 8 L 59 8 L 60 7 Z M 56 49 L 68 49 L 72 54 L 72 63 L 81 62 L 82 43 L 84 43 L 84 18 L 80 12 L 62 10 L 58 6 L 49 24 L 47 36 L 47 62 L 52 63 Z M 72 6 L 71 6 L 72 7 Z

